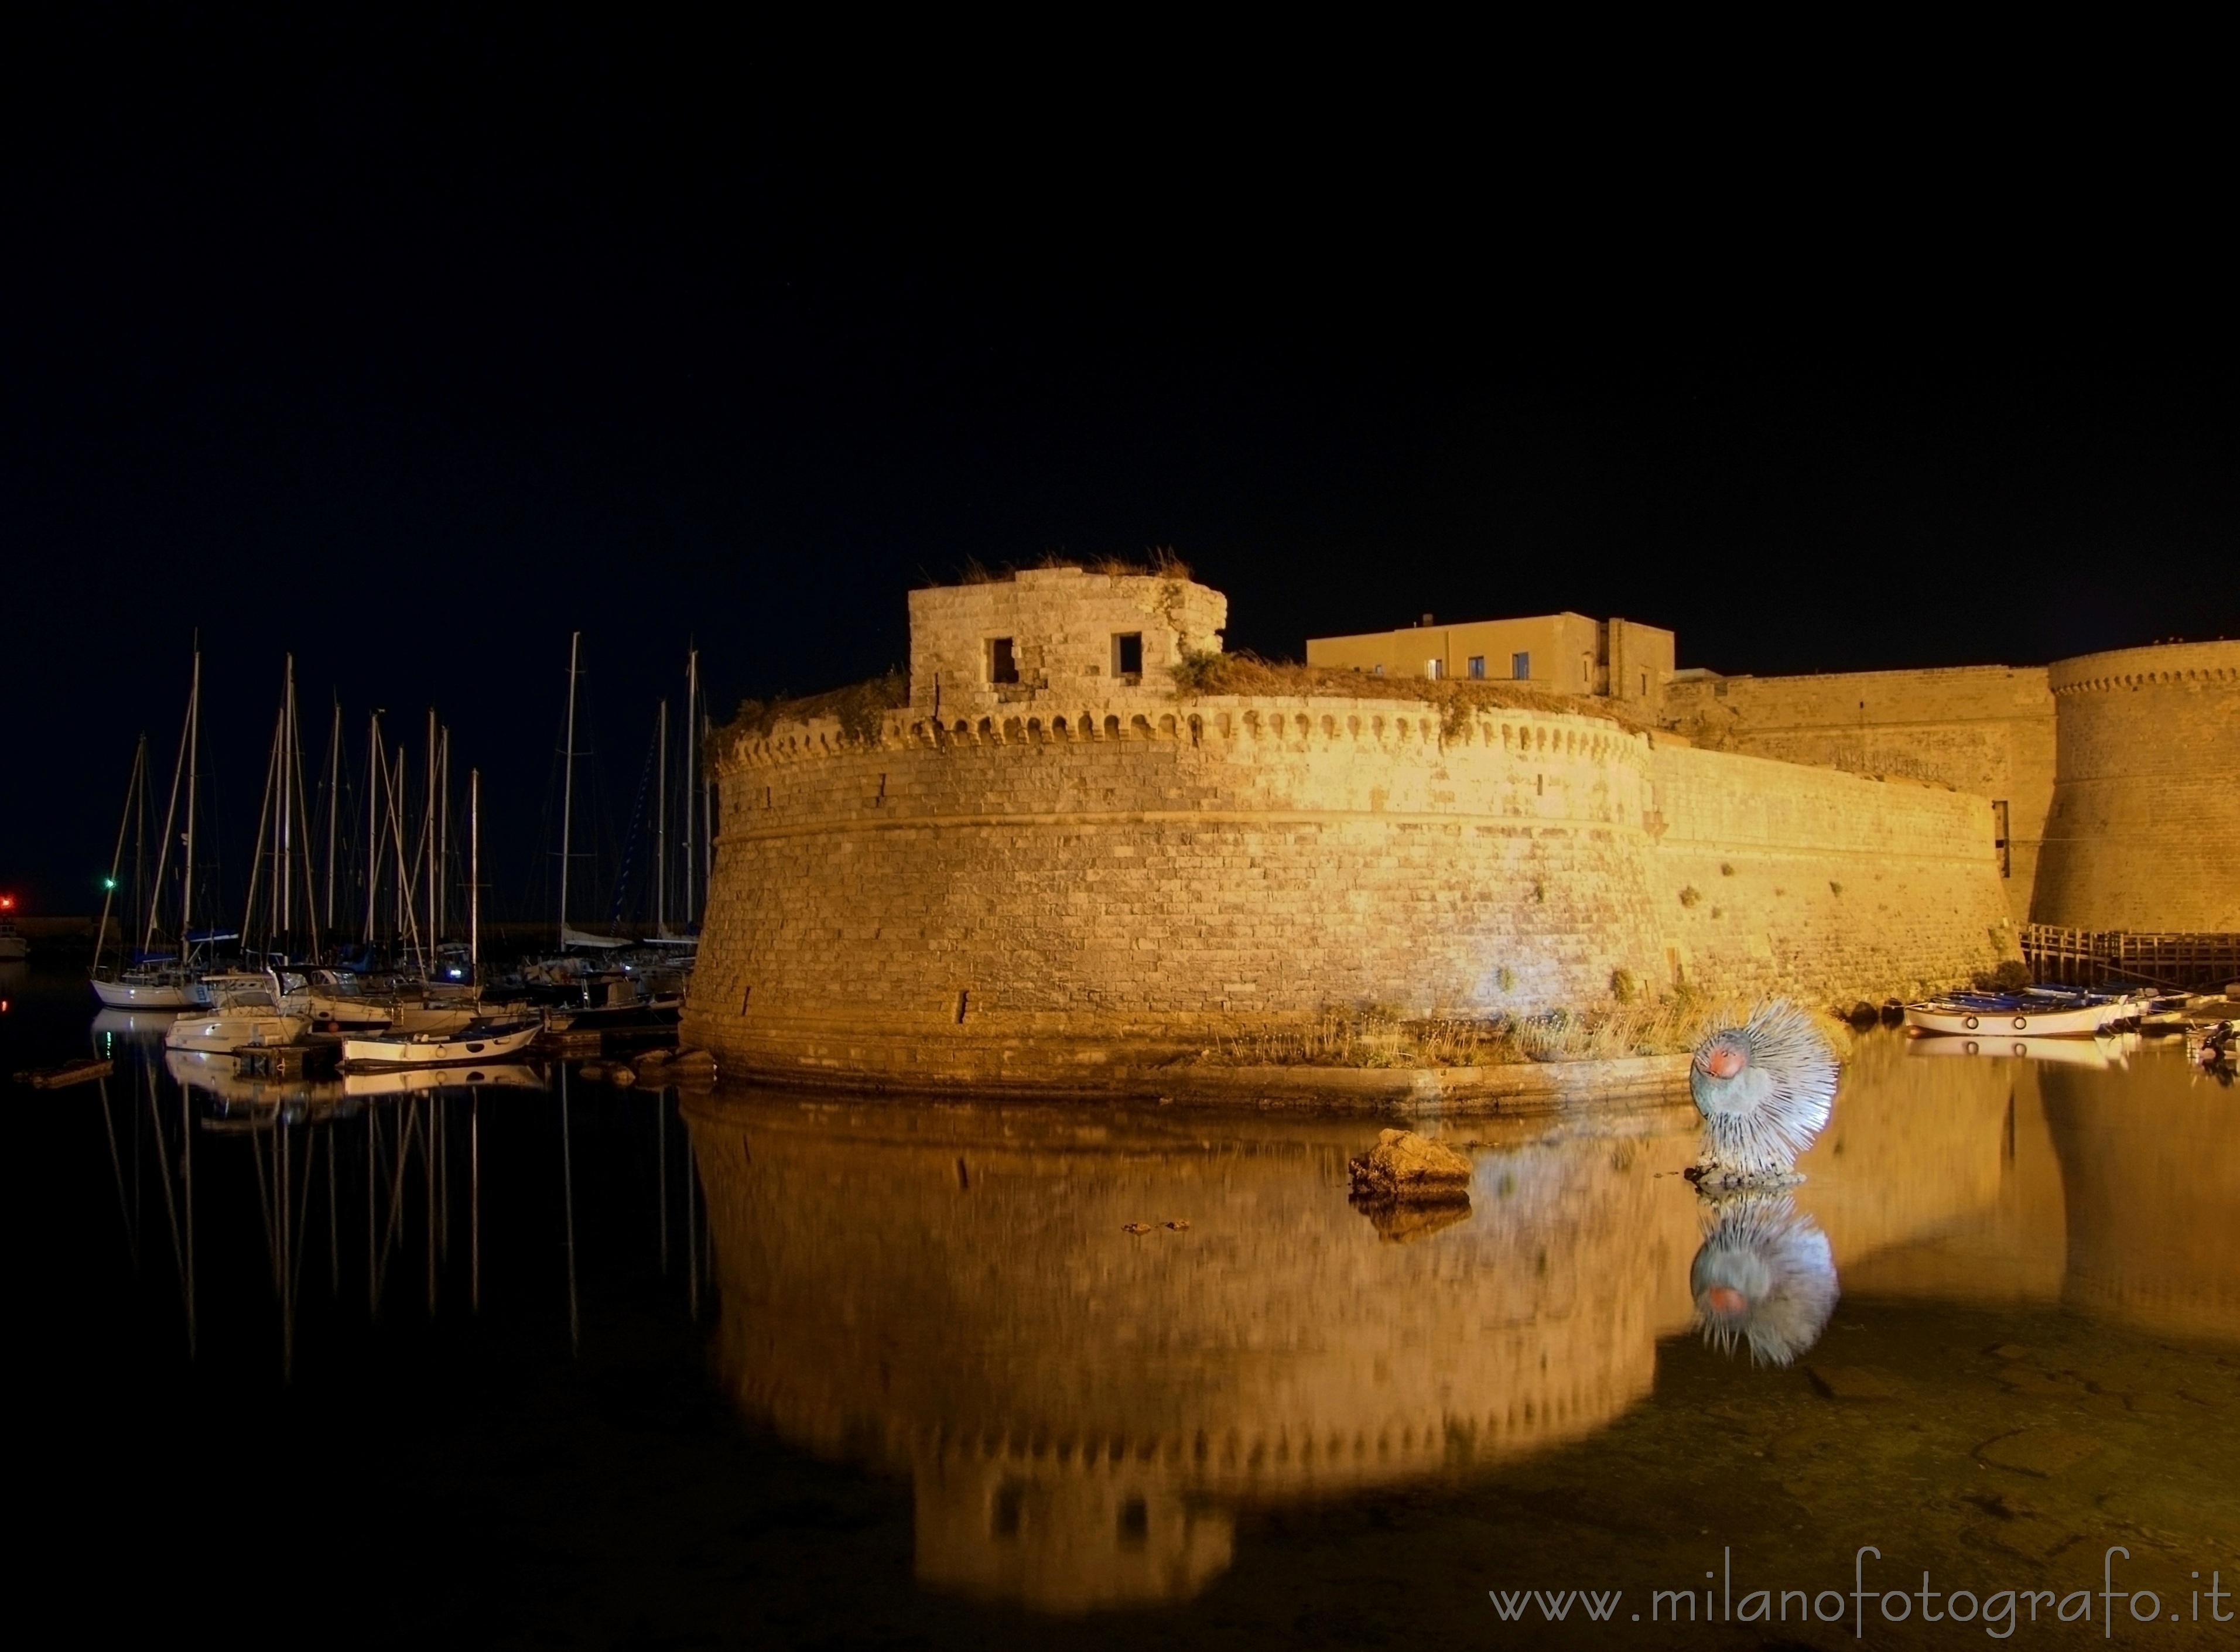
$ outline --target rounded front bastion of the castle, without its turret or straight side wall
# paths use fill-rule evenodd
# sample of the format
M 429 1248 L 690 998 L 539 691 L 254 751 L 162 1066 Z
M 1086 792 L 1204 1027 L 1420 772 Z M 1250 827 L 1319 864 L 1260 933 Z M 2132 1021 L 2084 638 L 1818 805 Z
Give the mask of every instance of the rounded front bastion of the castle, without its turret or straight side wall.
M 1534 1012 L 1658 956 L 1642 736 L 1167 701 L 741 736 L 688 1036 L 771 1072 L 1100 1083 L 1331 1007 Z

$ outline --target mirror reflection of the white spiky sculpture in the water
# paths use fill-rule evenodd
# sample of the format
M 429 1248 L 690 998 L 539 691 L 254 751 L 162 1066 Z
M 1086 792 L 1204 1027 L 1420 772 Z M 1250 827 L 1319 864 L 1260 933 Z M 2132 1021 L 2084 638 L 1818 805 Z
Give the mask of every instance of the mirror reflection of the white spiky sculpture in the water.
M 1720 1352 L 1749 1343 L 1749 1363 L 1788 1365 L 1828 1330 L 1837 1278 L 1828 1236 L 1785 1193 L 1714 1202 L 1689 1265 L 1702 1339 Z

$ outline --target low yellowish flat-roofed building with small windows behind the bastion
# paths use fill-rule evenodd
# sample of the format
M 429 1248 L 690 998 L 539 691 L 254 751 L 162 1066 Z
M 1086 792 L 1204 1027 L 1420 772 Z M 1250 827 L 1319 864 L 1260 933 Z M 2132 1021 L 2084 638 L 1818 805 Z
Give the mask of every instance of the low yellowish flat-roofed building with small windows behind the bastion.
M 1537 613 L 1525 620 L 1313 636 L 1306 663 L 1371 676 L 1492 678 L 1552 694 L 1595 694 L 1653 712 L 1673 674 L 1673 633 L 1640 620 Z

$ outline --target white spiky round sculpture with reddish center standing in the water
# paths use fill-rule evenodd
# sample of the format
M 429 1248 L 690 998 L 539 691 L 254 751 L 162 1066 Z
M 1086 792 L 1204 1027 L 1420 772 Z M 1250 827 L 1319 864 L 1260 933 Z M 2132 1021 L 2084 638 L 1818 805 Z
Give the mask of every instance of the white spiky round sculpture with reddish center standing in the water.
M 1687 1088 L 1705 1124 L 1705 1168 L 1736 1177 L 1779 1177 L 1828 1126 L 1837 1059 L 1812 1019 L 1774 998 L 1740 1027 L 1696 1048 Z

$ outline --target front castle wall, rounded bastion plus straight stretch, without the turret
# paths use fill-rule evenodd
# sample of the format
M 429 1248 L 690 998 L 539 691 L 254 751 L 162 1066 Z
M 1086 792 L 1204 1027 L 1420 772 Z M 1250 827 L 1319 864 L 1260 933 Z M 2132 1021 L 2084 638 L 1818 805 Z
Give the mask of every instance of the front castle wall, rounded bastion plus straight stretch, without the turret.
M 1879 998 L 2003 951 L 1989 806 L 1940 788 L 1557 712 L 1053 703 L 735 734 L 685 1036 L 732 1072 L 1142 1090 L 1331 1010 Z

